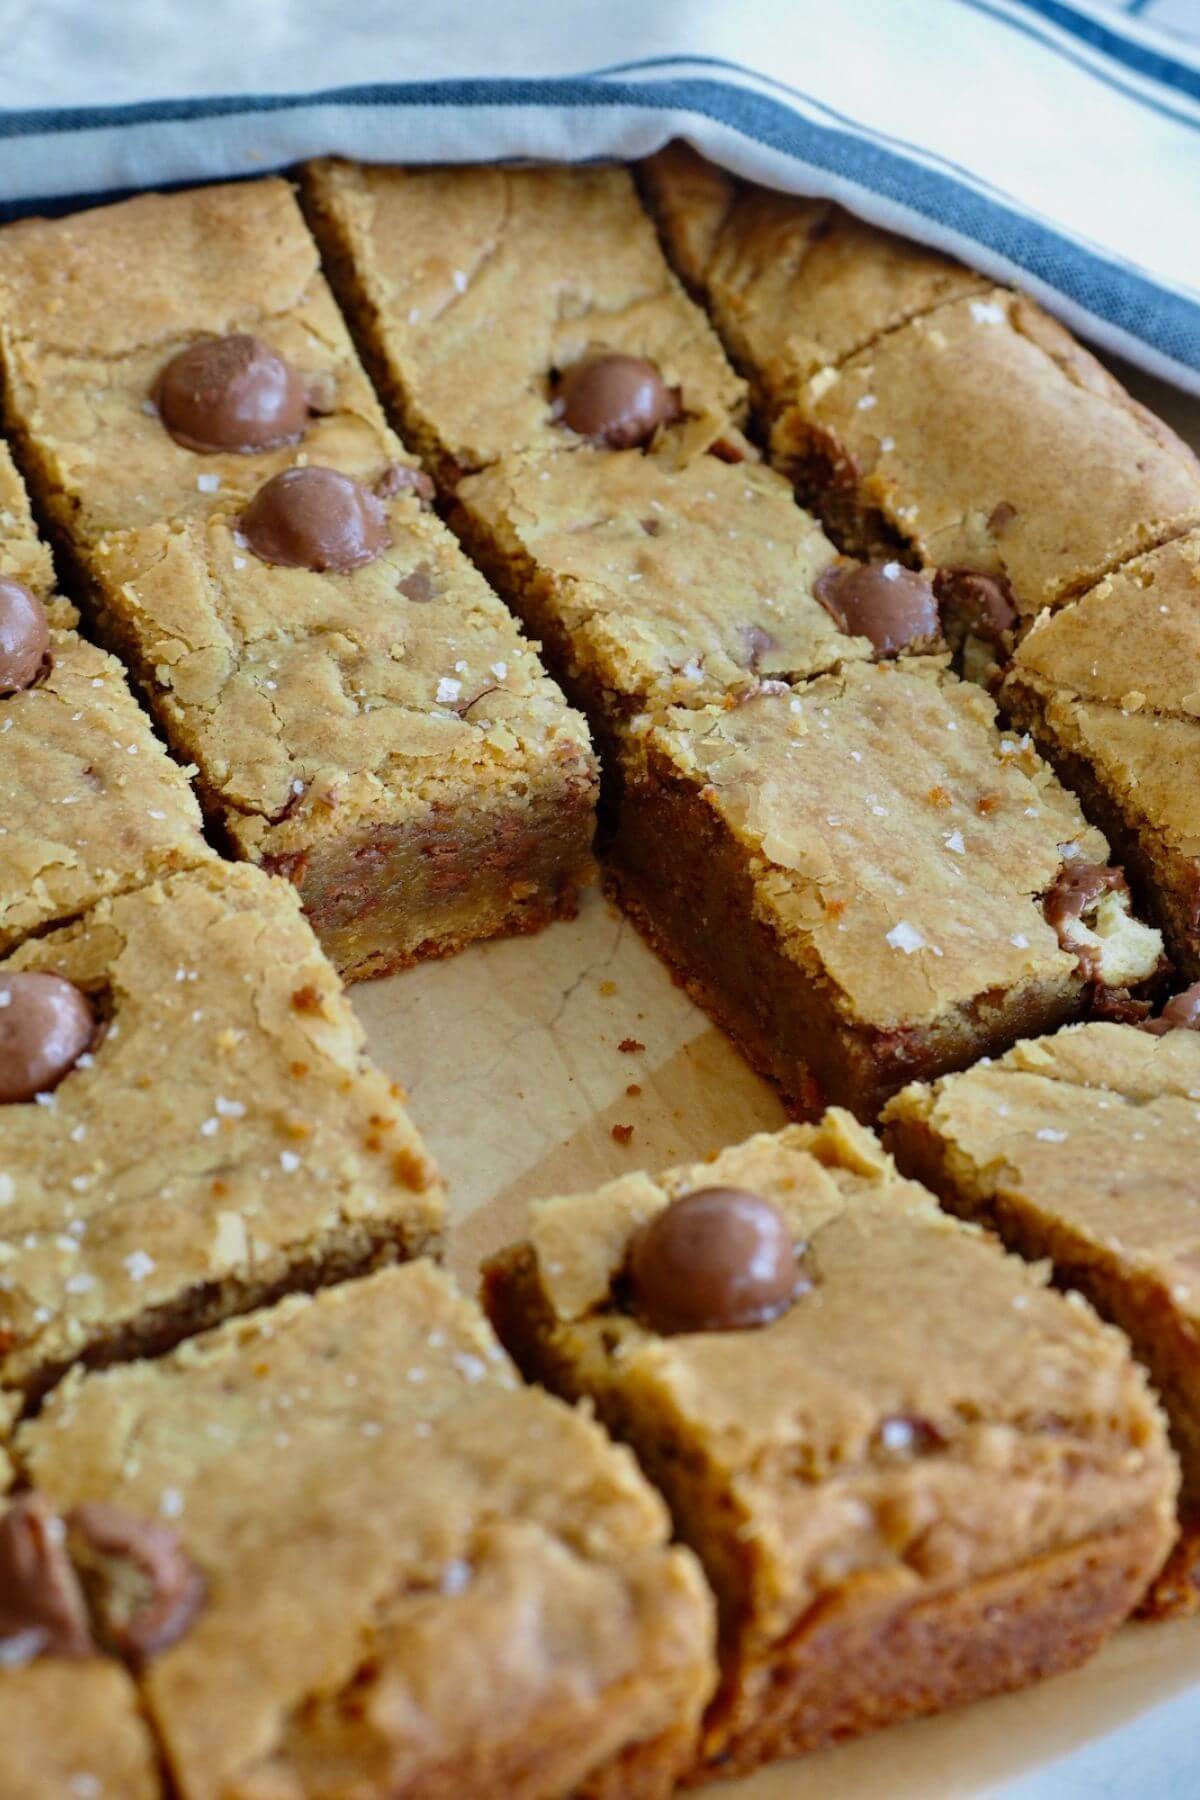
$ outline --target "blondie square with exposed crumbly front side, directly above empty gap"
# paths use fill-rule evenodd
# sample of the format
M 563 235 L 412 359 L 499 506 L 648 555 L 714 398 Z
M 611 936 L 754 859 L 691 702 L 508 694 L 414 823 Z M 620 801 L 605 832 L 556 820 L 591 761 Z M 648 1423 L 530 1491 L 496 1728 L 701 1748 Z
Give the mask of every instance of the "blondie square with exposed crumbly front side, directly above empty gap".
M 570 913 L 592 875 L 587 725 L 407 491 L 336 572 L 250 553 L 239 518 L 108 536 L 117 643 L 236 855 L 286 875 L 347 979 Z

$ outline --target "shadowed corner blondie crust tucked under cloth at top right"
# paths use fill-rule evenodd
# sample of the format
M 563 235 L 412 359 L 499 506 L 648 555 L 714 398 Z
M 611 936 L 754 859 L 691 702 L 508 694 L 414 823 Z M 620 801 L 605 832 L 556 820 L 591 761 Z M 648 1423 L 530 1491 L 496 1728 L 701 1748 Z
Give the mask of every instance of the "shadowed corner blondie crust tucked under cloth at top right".
M 671 261 L 770 419 L 817 369 L 988 283 L 829 200 L 756 187 L 680 140 L 640 166 Z

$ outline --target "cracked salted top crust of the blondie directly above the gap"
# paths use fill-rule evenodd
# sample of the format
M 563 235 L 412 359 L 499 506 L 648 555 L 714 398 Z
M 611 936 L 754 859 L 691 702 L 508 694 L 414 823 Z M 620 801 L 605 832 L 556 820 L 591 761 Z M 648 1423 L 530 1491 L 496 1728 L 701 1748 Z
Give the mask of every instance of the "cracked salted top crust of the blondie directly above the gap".
M 486 808 L 515 776 L 594 781 L 583 720 L 450 533 L 412 495 L 389 529 L 349 574 L 263 563 L 225 515 L 92 556 L 110 634 L 243 855 Z

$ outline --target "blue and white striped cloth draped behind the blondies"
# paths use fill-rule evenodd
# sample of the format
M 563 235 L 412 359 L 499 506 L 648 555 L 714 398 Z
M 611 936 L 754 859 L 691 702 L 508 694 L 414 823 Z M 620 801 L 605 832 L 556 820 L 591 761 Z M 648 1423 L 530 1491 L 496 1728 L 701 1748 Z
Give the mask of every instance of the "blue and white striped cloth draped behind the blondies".
M 0 0 L 0 47 L 5 216 L 682 135 L 1200 394 L 1200 0 Z

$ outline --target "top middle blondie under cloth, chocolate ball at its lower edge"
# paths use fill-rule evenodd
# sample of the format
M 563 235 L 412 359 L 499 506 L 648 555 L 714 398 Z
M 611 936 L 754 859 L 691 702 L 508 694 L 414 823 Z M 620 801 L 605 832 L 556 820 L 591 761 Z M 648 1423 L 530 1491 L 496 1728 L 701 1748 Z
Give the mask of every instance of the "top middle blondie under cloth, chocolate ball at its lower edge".
M 443 488 L 583 441 L 560 378 L 644 358 L 676 394 L 685 459 L 741 445 L 745 391 L 666 265 L 622 167 L 390 169 L 313 162 L 308 216 L 401 430 Z

